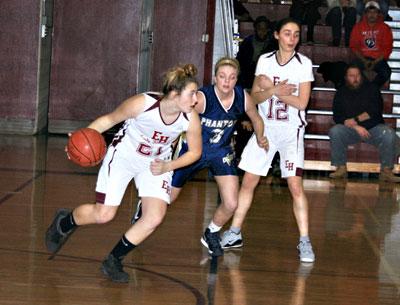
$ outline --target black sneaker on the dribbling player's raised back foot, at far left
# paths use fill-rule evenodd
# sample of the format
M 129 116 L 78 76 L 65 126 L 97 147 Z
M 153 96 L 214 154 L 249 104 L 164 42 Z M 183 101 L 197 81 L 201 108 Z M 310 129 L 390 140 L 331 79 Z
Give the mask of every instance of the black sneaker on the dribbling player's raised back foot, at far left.
M 59 209 L 57 210 L 53 222 L 46 231 L 46 247 L 50 253 L 57 253 L 63 244 L 67 241 L 68 237 L 75 231 L 76 228 L 70 230 L 67 233 L 63 233 L 60 228 L 60 221 L 64 217 L 68 216 L 71 210 Z

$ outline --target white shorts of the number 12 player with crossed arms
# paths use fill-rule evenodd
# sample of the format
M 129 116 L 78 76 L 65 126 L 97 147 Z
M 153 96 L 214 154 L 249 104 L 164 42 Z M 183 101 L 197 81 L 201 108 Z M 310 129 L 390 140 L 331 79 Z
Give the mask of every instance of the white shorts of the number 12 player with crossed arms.
M 265 127 L 264 133 L 269 141 L 269 150 L 265 151 L 257 144 L 253 134 L 243 150 L 239 168 L 258 175 L 266 176 L 272 159 L 278 151 L 283 178 L 302 176 L 304 168 L 304 128 Z

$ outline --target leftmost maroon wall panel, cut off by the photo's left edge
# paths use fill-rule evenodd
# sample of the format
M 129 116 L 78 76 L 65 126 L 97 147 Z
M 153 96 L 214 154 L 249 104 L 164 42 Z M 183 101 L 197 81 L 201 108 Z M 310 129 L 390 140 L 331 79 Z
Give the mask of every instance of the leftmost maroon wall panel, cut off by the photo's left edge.
M 40 1 L 0 1 L 0 117 L 34 119 Z

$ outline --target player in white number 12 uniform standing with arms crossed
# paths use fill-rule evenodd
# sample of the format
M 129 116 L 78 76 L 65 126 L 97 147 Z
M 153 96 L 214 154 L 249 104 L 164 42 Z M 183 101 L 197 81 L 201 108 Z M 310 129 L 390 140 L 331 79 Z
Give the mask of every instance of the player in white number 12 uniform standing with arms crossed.
M 303 188 L 304 129 L 311 82 L 310 59 L 296 51 L 300 25 L 293 19 L 278 22 L 275 38 L 279 49 L 260 56 L 251 95 L 264 120 L 269 150 L 260 149 L 254 137 L 245 147 L 239 168 L 245 171 L 239 191 L 238 208 L 231 228 L 224 232 L 224 249 L 243 245 L 241 227 L 254 196 L 260 176 L 266 176 L 276 152 L 280 154 L 282 177 L 287 179 L 293 199 L 293 211 L 300 232 L 298 244 L 302 262 L 313 262 L 315 255 L 308 234 L 308 202 Z

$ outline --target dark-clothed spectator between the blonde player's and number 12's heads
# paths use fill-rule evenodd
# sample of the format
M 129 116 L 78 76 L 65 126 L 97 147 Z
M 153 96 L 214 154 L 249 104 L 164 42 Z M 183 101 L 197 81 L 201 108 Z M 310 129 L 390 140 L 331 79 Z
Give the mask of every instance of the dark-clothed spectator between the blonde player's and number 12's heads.
M 258 58 L 261 54 L 275 50 L 275 38 L 271 22 L 265 16 L 259 16 L 253 23 L 254 34 L 247 36 L 239 46 L 236 59 L 240 64 L 238 84 L 251 89 Z

